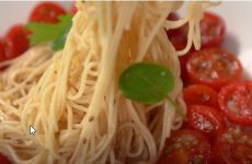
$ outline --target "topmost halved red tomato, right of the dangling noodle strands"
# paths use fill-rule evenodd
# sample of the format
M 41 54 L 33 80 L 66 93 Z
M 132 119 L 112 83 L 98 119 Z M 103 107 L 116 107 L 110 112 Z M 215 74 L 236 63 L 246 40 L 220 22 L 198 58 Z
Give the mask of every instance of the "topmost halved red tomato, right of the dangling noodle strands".
M 202 47 L 220 46 L 225 35 L 224 20 L 210 12 L 205 12 L 201 21 Z

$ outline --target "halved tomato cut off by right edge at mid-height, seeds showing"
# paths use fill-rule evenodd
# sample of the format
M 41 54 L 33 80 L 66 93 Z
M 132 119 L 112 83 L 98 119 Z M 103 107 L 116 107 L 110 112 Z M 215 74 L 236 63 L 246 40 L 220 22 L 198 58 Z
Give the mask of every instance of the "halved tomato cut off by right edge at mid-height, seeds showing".
M 219 106 L 230 121 L 252 126 L 252 82 L 233 83 L 219 92 Z

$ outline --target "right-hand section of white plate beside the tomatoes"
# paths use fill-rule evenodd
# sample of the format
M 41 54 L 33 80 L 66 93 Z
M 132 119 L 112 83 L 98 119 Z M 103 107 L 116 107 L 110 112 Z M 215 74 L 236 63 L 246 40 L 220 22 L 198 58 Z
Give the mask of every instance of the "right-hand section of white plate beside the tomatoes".
M 239 55 L 245 69 L 245 78 L 252 77 L 252 1 L 224 2 L 213 9 L 226 22 L 227 36 L 224 46 L 230 52 Z

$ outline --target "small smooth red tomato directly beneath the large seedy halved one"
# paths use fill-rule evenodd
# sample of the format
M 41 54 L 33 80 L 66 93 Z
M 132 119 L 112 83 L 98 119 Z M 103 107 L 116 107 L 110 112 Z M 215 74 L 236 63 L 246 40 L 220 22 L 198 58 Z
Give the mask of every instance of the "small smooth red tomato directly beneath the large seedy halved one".
M 218 94 L 207 85 L 194 84 L 184 89 L 184 101 L 190 105 L 208 105 L 218 107 Z

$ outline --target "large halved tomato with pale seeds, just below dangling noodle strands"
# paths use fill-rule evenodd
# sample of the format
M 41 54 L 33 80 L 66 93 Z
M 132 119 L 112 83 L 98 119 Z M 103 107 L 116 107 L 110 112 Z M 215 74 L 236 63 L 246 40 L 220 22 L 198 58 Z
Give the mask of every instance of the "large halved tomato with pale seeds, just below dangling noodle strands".
M 206 84 L 216 90 L 239 81 L 242 75 L 242 66 L 238 58 L 220 48 L 191 54 L 186 70 L 191 83 Z

